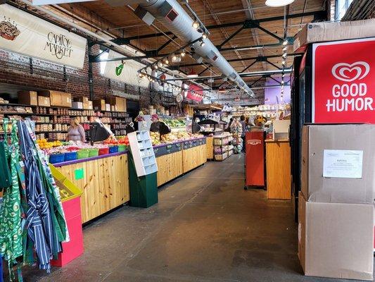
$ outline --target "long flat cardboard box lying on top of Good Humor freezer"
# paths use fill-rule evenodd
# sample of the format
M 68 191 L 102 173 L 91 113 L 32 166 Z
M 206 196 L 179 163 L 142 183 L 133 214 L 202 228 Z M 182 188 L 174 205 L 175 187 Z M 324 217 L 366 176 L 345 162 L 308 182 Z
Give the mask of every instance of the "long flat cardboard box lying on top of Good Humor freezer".
M 307 23 L 294 37 L 293 50 L 305 51 L 307 44 L 375 36 L 375 19 L 338 23 Z

